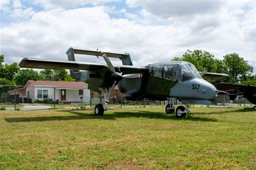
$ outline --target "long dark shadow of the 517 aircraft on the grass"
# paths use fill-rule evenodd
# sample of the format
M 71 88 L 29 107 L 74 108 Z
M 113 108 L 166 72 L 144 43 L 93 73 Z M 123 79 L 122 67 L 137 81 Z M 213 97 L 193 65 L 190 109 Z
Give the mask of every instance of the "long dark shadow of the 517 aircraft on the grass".
M 149 112 L 141 110 L 130 110 L 124 112 L 113 112 L 112 114 L 106 114 L 102 116 L 95 116 L 93 114 L 87 114 L 77 112 L 73 110 L 63 110 L 62 112 L 69 112 L 74 116 L 50 116 L 50 117 L 17 117 L 17 118 L 4 118 L 7 122 L 44 122 L 44 121 L 68 121 L 79 119 L 109 119 L 115 120 L 116 118 L 150 118 L 150 119 L 173 119 L 176 121 L 204 121 L 204 122 L 217 122 L 216 119 L 206 117 L 187 116 L 186 118 L 176 118 L 173 115 L 167 115 L 160 112 Z

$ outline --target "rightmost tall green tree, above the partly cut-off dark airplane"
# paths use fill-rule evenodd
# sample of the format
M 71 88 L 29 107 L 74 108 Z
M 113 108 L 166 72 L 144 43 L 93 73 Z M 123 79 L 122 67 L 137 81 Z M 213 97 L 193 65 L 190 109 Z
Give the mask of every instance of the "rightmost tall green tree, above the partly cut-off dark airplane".
M 229 75 L 228 82 L 246 81 L 253 72 L 253 67 L 248 64 L 248 61 L 240 57 L 237 53 L 231 53 L 224 56 L 223 62 L 227 67 Z

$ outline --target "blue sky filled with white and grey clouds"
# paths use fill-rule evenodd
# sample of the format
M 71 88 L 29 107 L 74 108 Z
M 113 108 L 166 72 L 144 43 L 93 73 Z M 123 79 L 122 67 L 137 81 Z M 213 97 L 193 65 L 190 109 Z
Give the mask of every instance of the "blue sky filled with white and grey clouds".
M 65 52 L 72 46 L 129 53 L 134 66 L 146 66 L 202 49 L 218 59 L 238 53 L 256 74 L 255 5 L 254 0 L 1 0 L 0 54 L 9 64 L 24 57 L 68 60 Z M 76 60 L 104 63 L 96 56 Z

